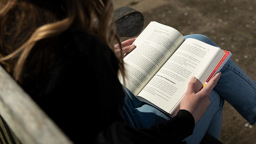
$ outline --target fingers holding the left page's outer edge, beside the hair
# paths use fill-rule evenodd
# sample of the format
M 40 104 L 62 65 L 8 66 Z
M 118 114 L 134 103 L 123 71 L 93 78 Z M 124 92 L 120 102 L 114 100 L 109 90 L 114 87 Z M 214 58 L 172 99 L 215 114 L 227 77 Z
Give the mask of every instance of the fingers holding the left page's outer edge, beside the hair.
M 122 48 L 123 54 L 132 52 L 132 50 L 134 50 L 135 45 L 132 44 L 132 43 L 135 41 L 136 38 L 137 38 L 137 37 L 131 38 L 131 39 L 128 39 L 128 40 L 123 41 L 123 42 L 121 43 L 122 46 L 123 46 L 123 48 Z M 117 54 L 117 56 L 118 56 L 118 57 L 121 57 L 121 49 L 120 49 L 120 47 L 119 47 L 119 44 L 116 44 L 116 45 L 115 45 L 115 49 L 116 49 L 116 54 Z

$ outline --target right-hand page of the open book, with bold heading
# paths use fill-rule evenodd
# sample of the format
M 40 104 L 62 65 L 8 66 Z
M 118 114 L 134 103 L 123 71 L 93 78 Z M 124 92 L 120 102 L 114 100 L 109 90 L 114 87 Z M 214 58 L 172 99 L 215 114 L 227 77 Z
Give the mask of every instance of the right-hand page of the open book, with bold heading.
M 188 82 L 192 76 L 196 76 L 201 81 L 201 84 L 197 83 L 199 91 L 207 79 L 207 77 L 200 79 L 201 75 L 216 67 L 224 55 L 220 54 L 219 56 L 220 51 L 220 48 L 196 39 L 186 39 L 139 93 L 138 97 L 143 97 L 168 113 L 173 111 L 187 91 Z M 212 60 L 216 61 L 213 62 L 214 68 L 209 69 L 208 65 L 212 63 Z M 210 74 L 206 73 L 208 76 Z

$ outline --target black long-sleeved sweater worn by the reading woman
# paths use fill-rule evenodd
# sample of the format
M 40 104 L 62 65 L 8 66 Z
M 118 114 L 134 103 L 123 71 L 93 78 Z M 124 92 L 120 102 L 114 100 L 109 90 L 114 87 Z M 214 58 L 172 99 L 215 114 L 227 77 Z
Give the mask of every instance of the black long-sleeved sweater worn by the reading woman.
M 38 42 L 35 51 L 42 45 L 47 54 L 31 52 L 22 86 L 75 143 L 180 143 L 192 134 L 194 118 L 186 110 L 149 129 L 125 124 L 118 62 L 96 36 L 71 28 Z

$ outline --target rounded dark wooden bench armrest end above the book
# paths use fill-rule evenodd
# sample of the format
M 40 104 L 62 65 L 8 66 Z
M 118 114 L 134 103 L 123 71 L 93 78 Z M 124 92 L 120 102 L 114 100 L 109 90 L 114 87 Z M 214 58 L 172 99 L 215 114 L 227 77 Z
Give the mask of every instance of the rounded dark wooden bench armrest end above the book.
M 136 36 L 144 26 L 143 15 L 128 6 L 116 9 L 113 17 L 116 22 L 116 33 L 120 37 Z

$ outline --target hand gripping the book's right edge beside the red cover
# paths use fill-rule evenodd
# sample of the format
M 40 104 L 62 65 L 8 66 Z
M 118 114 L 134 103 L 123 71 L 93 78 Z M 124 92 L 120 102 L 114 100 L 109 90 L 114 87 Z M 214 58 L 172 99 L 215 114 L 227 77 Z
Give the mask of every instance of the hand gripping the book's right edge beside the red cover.
M 188 83 L 188 89 L 181 100 L 180 109 L 188 110 L 192 116 L 194 116 L 195 123 L 203 116 L 207 107 L 210 105 L 210 92 L 216 86 L 221 72 L 218 72 L 209 83 L 199 92 L 195 93 L 195 88 L 197 84 L 196 77 L 192 77 Z

